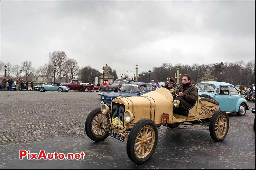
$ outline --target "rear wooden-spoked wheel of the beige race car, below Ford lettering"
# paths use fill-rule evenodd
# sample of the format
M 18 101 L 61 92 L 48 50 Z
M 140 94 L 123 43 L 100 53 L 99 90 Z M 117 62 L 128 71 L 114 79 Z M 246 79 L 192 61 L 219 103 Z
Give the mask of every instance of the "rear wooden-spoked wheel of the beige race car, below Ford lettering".
M 216 142 L 220 142 L 225 139 L 228 134 L 229 118 L 228 114 L 223 110 L 216 111 L 210 121 L 210 135 Z

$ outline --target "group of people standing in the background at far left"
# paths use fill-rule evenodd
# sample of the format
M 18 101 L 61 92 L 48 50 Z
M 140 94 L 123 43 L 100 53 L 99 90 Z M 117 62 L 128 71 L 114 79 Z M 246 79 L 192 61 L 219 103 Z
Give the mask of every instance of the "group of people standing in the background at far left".
M 14 83 L 14 81 L 12 80 L 12 78 L 9 78 L 9 80 L 6 79 L 6 77 L 2 80 L 2 90 L 7 90 L 6 85 L 9 85 L 8 90 L 12 90 L 12 84 Z M 16 80 L 16 90 L 28 90 L 28 81 L 24 81 L 23 79 L 17 78 Z M 25 87 L 26 85 L 26 87 Z M 33 90 L 33 86 L 34 86 L 34 82 L 31 81 L 30 82 L 30 90 Z

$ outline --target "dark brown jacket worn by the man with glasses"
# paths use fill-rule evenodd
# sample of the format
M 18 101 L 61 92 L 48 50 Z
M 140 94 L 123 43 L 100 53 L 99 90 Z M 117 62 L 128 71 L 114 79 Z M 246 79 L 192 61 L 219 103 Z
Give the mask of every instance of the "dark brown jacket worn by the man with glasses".
M 182 84 L 179 86 L 179 88 L 184 95 L 182 97 L 176 97 L 174 100 L 180 100 L 179 109 L 188 111 L 190 107 L 194 106 L 198 98 L 197 89 L 194 85 L 189 85 L 183 89 Z

